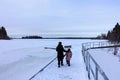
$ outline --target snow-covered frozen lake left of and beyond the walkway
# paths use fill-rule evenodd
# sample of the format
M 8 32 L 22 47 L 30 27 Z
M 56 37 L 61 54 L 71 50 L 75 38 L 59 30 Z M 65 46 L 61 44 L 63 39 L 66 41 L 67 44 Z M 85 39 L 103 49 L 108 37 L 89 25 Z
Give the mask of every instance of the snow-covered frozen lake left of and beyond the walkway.
M 72 50 L 77 50 L 77 54 L 80 54 L 81 43 L 90 40 L 0 40 L 0 80 L 28 80 L 56 57 L 55 50 L 44 49 L 44 47 L 55 48 L 59 41 L 62 41 L 63 45 L 72 45 Z

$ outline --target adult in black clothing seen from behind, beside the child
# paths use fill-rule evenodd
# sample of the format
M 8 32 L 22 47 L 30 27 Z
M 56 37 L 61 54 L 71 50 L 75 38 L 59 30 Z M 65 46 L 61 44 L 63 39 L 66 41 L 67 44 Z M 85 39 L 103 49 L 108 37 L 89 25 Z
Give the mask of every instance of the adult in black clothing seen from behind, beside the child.
M 56 47 L 56 51 L 57 51 L 57 60 L 58 60 L 58 67 L 63 66 L 63 58 L 64 58 L 64 52 L 66 52 L 63 48 L 62 42 L 59 42 L 57 47 Z

